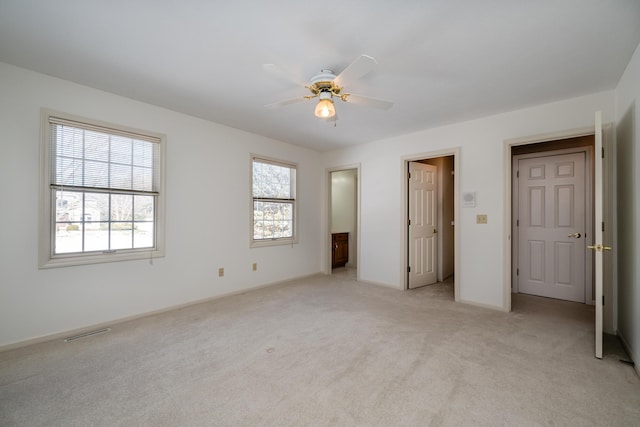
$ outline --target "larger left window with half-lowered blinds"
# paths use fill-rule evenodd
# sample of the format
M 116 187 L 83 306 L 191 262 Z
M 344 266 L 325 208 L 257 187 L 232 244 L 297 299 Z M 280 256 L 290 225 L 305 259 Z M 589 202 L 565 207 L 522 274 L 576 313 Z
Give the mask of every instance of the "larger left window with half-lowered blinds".
M 43 111 L 40 267 L 162 256 L 161 135 Z

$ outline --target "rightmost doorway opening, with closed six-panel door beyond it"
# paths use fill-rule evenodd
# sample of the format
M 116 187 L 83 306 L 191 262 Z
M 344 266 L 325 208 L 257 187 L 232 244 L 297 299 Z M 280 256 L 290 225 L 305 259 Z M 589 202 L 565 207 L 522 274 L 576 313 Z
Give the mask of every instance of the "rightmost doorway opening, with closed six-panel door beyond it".
M 512 293 L 593 305 L 595 137 L 511 147 Z

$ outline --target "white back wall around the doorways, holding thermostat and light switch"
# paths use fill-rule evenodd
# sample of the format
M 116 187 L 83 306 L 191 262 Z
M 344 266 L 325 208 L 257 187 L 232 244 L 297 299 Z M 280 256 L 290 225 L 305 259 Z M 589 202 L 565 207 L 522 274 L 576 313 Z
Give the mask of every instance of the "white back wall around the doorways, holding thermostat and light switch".
M 361 164 L 360 278 L 404 288 L 406 207 L 402 204 L 402 158 L 428 157 L 429 152 L 460 147 L 456 179 L 460 191 L 477 193 L 476 208 L 460 209 L 461 301 L 506 309 L 504 297 L 504 170 L 505 140 L 593 127 L 594 112 L 613 120 L 613 92 L 564 100 L 483 119 L 429 129 L 323 154 L 324 167 Z M 475 215 L 488 215 L 488 224 L 475 224 Z

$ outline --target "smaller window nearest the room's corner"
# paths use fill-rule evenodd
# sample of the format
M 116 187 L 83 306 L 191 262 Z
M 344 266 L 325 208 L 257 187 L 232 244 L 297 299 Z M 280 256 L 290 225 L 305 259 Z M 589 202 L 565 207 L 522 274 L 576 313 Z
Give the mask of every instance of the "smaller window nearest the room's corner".
M 252 156 L 251 246 L 297 243 L 296 165 Z

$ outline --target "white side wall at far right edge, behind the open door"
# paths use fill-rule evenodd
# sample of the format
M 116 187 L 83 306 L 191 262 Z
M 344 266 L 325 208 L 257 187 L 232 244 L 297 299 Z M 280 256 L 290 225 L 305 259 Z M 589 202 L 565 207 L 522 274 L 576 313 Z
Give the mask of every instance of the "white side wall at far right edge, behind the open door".
M 640 374 L 640 46 L 615 90 L 618 334 Z

